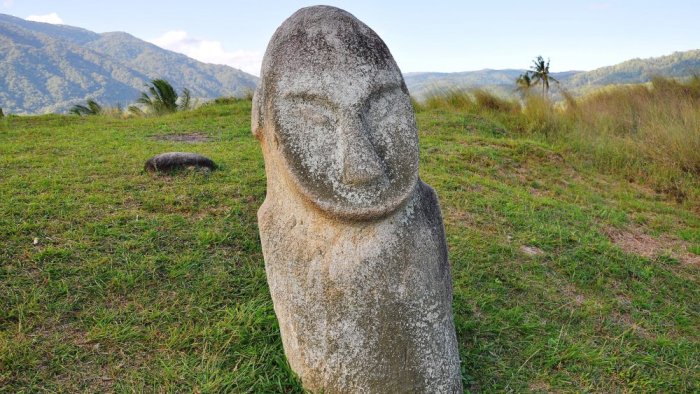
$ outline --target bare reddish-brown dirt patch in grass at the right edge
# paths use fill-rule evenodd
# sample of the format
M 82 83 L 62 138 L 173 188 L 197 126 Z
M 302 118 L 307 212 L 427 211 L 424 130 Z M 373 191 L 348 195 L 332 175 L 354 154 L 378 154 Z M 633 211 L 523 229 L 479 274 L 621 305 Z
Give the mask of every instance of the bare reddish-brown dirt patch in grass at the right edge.
M 610 228 L 605 232 L 615 245 L 627 253 L 648 259 L 670 256 L 683 264 L 700 266 L 700 256 L 690 253 L 687 242 L 683 240 L 669 236 L 655 238 L 638 228 L 626 230 Z

